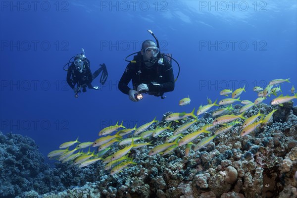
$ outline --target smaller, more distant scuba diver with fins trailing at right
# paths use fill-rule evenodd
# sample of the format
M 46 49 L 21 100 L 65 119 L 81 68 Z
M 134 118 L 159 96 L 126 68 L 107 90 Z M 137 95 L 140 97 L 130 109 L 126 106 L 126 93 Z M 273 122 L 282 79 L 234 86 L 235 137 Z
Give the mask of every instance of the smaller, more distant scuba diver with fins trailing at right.
M 90 61 L 85 56 L 85 51 L 82 49 L 83 53 L 77 54 L 74 57 L 74 61 L 70 62 L 73 57 L 70 58 L 69 62 L 64 65 L 64 70 L 67 71 L 67 77 L 66 81 L 68 85 L 73 89 L 75 93 L 75 98 L 78 98 L 81 89 L 83 89 L 83 92 L 86 92 L 88 87 L 89 89 L 98 90 L 98 86 L 93 86 L 91 83 L 92 81 L 99 75 L 100 72 L 101 78 L 100 83 L 101 85 L 104 85 L 106 82 L 108 73 L 105 64 L 100 64 L 100 68 L 96 70 L 93 74 L 90 69 Z M 69 64 L 71 65 L 69 66 Z M 68 69 L 65 69 L 65 66 L 68 65 Z M 77 85 L 77 87 L 75 87 Z

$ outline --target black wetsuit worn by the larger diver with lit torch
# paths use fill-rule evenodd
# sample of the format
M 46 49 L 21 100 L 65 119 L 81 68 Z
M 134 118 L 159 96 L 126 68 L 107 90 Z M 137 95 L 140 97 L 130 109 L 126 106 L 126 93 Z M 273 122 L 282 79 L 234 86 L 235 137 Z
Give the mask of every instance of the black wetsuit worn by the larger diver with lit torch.
M 143 60 L 142 56 L 135 56 L 134 60 Z M 148 85 L 148 94 L 162 96 L 165 92 L 174 90 L 174 75 L 171 63 L 165 59 L 164 65 L 157 62 L 148 68 L 144 62 L 129 63 L 119 81 L 118 88 L 124 94 L 129 94 L 129 82 L 132 80 L 133 89 L 144 83 Z M 139 72 L 141 71 L 141 73 Z M 157 82 L 160 86 L 153 86 L 151 82 Z

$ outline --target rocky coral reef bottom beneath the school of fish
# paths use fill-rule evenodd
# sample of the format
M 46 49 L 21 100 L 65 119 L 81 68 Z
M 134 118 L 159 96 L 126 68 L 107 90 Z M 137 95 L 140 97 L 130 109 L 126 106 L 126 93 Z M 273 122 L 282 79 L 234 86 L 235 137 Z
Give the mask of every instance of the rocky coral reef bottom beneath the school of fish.
M 259 110 L 268 114 L 272 107 L 262 103 L 246 115 Z M 212 121 L 205 113 L 187 133 Z M 157 125 L 165 123 L 162 119 Z M 172 135 L 162 133 L 148 139 L 153 146 L 132 150 L 129 156 L 137 165 L 115 175 L 105 172 L 101 161 L 85 168 L 56 162 L 51 168 L 34 140 L 0 132 L 0 198 L 297 198 L 297 107 L 279 106 L 263 129 L 244 137 L 240 131 L 236 125 L 188 156 L 185 146 L 148 156 Z M 115 145 L 111 153 L 121 148 Z

